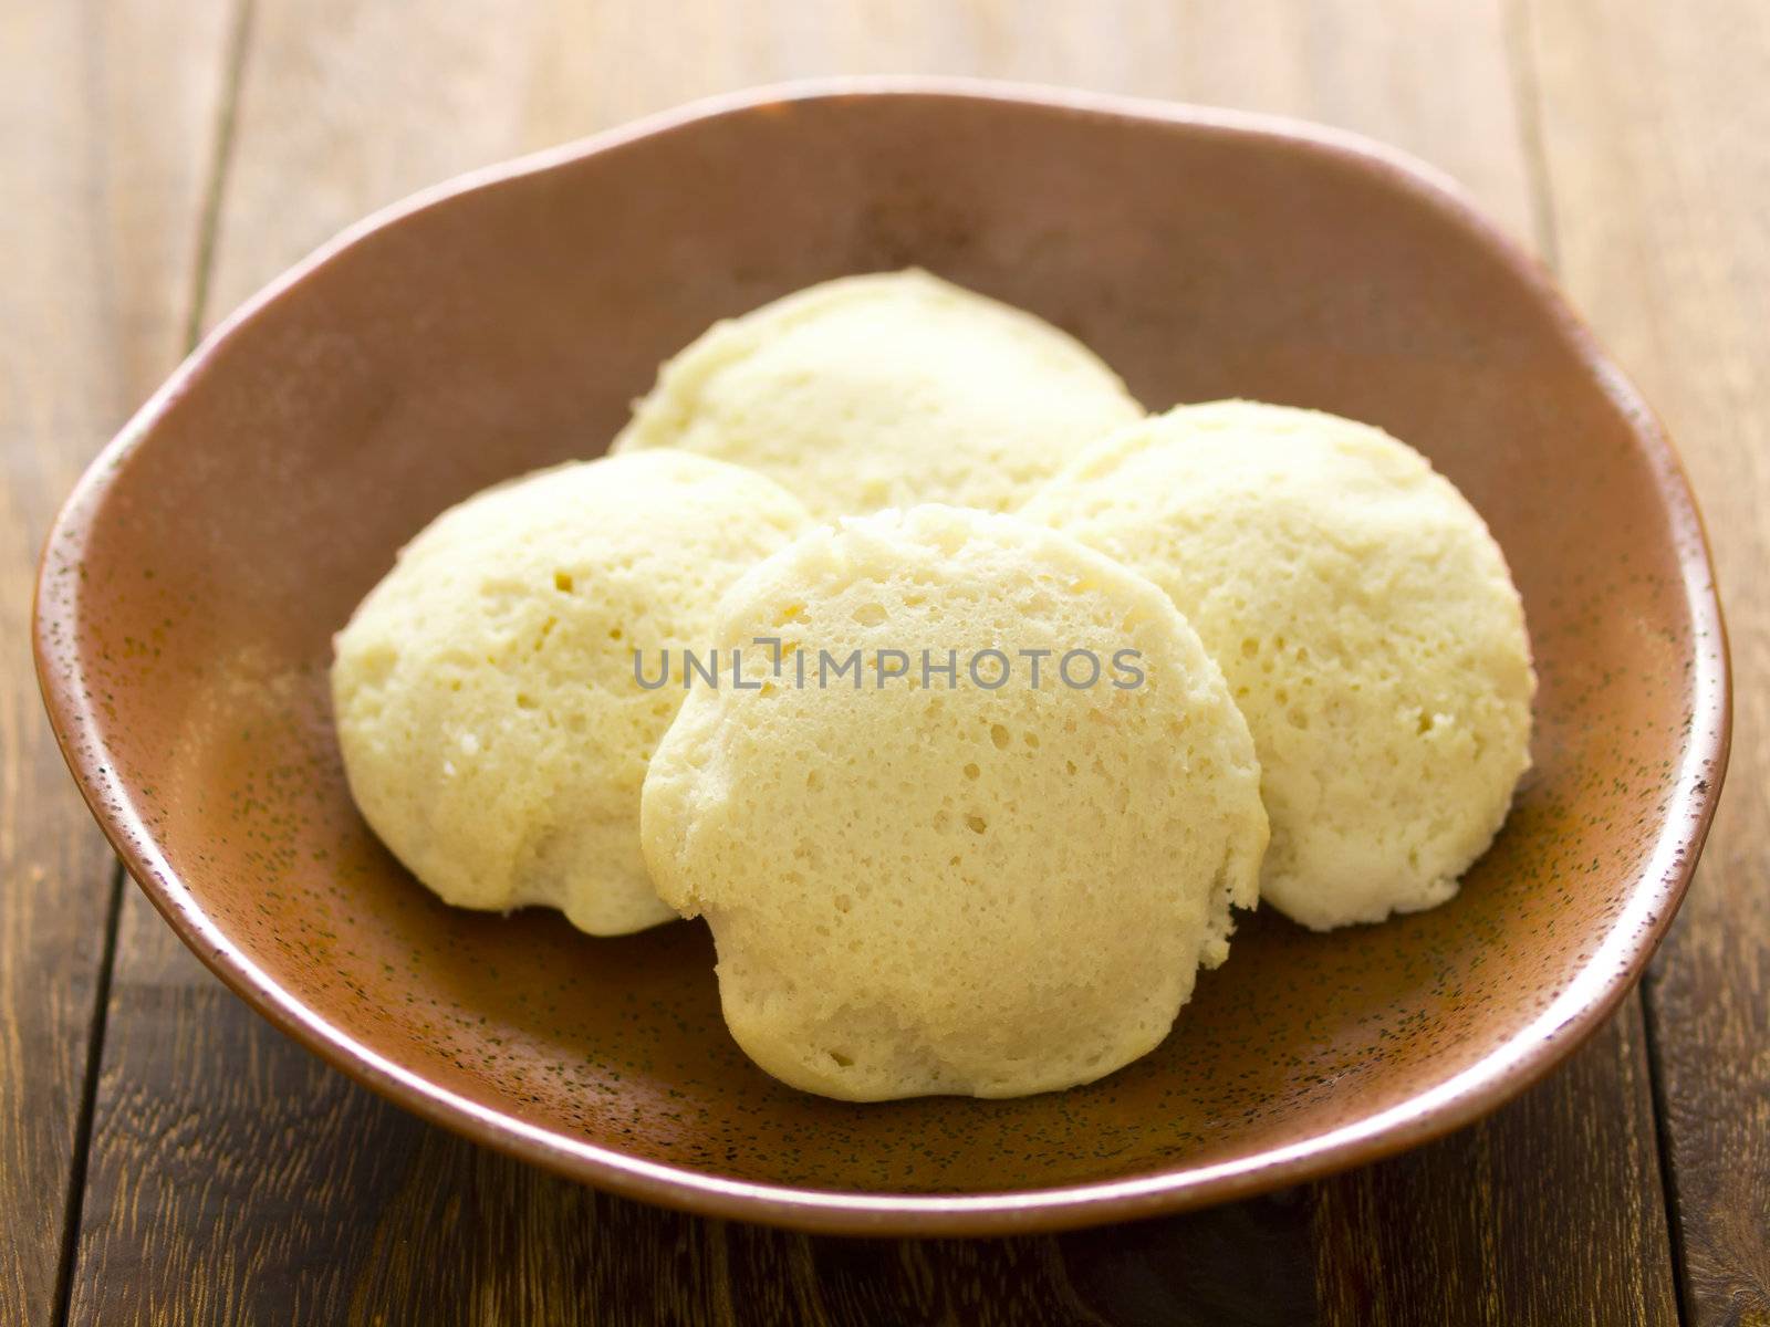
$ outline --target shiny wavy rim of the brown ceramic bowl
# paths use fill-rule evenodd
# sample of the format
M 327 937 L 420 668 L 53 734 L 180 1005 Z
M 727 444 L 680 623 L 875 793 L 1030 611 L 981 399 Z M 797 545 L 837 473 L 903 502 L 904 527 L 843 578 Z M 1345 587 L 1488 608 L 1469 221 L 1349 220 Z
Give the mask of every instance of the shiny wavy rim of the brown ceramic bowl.
M 1299 1143 L 1211 1166 L 1168 1161 L 1147 1173 L 1113 1180 L 952 1194 L 844 1193 L 759 1184 L 570 1139 L 427 1081 L 333 1026 L 297 993 L 280 986 L 228 938 L 172 871 L 129 787 L 115 771 L 104 745 L 104 724 L 87 697 L 87 679 L 74 644 L 81 617 L 78 577 L 57 577 L 55 568 L 81 564 L 94 520 L 133 449 L 204 372 L 216 350 L 345 249 L 451 198 L 540 175 L 703 120 L 768 111 L 782 103 L 828 99 L 1007 103 L 1205 131 L 1223 138 L 1278 140 L 1331 156 L 1340 165 L 1407 193 L 1412 202 L 1435 211 L 1497 255 L 1535 292 L 1600 389 L 1632 421 L 1635 449 L 1653 476 L 1666 510 L 1690 610 L 1692 639 L 1708 637 L 1713 649 L 1694 651 L 1687 747 L 1653 851 L 1625 908 L 1577 977 L 1501 1047 L 1427 1092 L 1375 1115 Z M 276 1028 L 358 1083 L 476 1143 L 627 1198 L 708 1217 L 758 1221 L 812 1233 L 1009 1235 L 1126 1221 L 1320 1178 L 1418 1147 L 1476 1120 L 1566 1058 L 1641 977 L 1689 888 L 1720 796 L 1731 740 L 1726 623 L 1708 536 L 1683 464 L 1660 419 L 1604 354 L 1547 269 L 1489 221 L 1455 180 L 1435 166 L 1361 134 L 1289 117 L 979 78 L 844 76 L 727 92 L 572 143 L 471 170 L 377 209 L 223 318 L 94 458 L 44 541 L 32 605 L 32 646 L 55 740 L 112 848 L 179 938 Z

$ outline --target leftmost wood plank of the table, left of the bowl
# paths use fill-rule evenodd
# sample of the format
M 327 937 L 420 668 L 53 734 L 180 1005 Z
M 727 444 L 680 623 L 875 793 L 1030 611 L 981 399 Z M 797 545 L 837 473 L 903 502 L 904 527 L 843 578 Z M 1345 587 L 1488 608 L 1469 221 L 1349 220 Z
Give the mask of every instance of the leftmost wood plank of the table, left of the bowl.
M 0 7 L 0 1323 L 53 1315 L 117 888 L 37 697 L 37 550 L 179 357 L 225 30 Z

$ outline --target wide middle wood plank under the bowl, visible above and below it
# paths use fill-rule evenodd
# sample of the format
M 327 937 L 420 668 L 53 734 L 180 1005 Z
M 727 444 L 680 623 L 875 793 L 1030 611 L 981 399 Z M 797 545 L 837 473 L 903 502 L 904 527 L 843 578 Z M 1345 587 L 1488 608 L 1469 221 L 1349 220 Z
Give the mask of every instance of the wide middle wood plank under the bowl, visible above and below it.
M 1439 5 L 490 0 L 414 25 L 262 0 L 218 232 L 225 311 L 361 212 L 681 99 L 924 69 L 1313 115 L 1535 216 L 1499 0 Z M 299 188 L 290 188 L 299 180 Z M 1669 1320 L 1639 1005 L 1575 1067 L 1411 1157 L 1168 1221 L 1012 1242 L 807 1240 L 591 1194 L 324 1070 L 211 982 L 131 890 L 78 1322 Z M 1423 1244 L 1430 1249 L 1423 1251 Z M 1552 1283 L 1561 1283 L 1556 1288 Z

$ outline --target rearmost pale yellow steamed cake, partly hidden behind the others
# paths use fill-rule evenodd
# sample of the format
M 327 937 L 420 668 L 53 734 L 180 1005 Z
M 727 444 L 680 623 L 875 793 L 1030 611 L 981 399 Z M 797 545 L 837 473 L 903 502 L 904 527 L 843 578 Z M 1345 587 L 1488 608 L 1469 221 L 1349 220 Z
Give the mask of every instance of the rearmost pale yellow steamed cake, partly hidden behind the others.
M 1005 511 L 1142 414 L 1051 324 L 903 271 L 715 324 L 662 366 L 614 451 L 752 465 L 823 518 L 917 502 Z

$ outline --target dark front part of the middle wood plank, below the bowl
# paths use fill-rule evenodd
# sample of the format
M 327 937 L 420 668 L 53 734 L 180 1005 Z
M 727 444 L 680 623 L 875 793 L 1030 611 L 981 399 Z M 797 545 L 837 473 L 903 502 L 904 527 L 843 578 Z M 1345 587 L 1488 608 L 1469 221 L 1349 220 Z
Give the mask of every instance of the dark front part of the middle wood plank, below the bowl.
M 1639 1010 L 1489 1120 L 1250 1203 L 844 1240 L 582 1189 L 382 1102 L 124 901 L 80 1323 L 1669 1323 Z M 119 1032 L 124 1030 L 124 1032 Z

